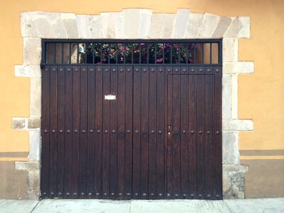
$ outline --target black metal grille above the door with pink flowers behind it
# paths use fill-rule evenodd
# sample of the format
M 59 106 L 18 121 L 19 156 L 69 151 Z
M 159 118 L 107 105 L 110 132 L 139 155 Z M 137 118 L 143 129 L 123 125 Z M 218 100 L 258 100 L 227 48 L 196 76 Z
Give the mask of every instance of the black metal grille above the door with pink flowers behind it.
M 43 65 L 222 66 L 222 40 L 43 40 Z

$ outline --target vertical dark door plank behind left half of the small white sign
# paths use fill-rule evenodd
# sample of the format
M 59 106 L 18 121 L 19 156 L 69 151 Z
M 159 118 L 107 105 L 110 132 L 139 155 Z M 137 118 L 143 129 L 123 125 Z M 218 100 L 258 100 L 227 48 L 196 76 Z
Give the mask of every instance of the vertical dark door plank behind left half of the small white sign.
M 110 67 L 103 67 L 103 95 L 110 93 Z M 104 98 L 104 97 L 103 97 Z M 102 193 L 103 198 L 109 197 L 109 121 L 110 102 L 103 100 L 103 137 L 102 137 Z

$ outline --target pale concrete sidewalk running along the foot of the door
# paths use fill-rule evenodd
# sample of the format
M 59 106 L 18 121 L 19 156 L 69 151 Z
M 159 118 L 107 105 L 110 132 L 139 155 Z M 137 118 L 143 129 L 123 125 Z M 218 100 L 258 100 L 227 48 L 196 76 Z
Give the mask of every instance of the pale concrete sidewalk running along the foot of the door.
M 244 200 L 0 200 L 1 213 L 284 213 L 283 198 Z

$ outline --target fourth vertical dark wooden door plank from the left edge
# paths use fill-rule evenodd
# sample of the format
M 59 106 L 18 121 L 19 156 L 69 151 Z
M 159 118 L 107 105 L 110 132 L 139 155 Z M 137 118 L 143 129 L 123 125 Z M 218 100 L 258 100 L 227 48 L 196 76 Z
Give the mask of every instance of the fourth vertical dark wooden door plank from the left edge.
M 72 67 L 65 68 L 65 175 L 64 196 L 70 198 L 72 192 Z

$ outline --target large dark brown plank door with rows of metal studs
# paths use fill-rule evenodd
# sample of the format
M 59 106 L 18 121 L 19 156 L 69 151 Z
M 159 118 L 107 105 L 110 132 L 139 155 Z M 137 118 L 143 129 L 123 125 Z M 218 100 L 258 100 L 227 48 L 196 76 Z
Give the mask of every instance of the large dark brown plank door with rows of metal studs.
M 43 68 L 42 197 L 222 198 L 220 67 Z

